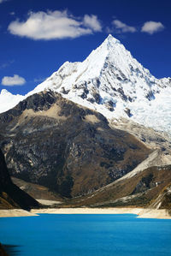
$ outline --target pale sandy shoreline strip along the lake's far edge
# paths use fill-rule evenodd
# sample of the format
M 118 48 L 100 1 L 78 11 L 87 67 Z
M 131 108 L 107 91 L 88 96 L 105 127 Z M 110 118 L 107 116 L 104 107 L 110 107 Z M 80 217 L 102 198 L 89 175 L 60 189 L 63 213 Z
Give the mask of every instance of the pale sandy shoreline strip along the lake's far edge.
M 48 214 L 136 214 L 144 218 L 171 219 L 166 210 L 154 210 L 143 208 L 48 208 L 32 209 L 24 211 L 21 209 L 0 210 L 0 217 L 29 217 L 38 216 L 39 213 Z

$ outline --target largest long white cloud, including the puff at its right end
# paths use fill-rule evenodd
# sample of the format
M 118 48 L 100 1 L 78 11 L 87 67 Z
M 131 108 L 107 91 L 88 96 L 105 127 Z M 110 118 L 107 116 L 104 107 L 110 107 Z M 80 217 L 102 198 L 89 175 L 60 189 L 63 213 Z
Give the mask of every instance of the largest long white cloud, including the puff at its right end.
M 64 11 L 29 13 L 27 21 L 12 21 L 9 32 L 30 39 L 65 39 L 101 31 L 96 15 L 75 18 Z

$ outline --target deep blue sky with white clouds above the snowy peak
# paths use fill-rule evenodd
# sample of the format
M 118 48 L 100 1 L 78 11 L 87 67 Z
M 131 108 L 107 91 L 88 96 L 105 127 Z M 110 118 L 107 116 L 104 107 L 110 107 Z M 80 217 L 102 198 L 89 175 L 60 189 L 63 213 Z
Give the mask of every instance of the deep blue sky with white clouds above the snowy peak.
M 0 88 L 31 91 L 109 33 L 151 74 L 171 76 L 170 9 L 169 0 L 0 0 Z

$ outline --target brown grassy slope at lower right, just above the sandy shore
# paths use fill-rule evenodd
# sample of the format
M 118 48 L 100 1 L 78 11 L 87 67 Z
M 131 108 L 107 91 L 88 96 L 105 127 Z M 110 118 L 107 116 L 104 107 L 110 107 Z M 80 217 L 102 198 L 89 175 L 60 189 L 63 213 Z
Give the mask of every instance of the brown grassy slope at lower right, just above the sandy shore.
M 170 208 L 171 165 L 152 166 L 130 172 L 85 197 L 68 202 L 70 206 L 91 207 L 139 206 L 152 209 Z

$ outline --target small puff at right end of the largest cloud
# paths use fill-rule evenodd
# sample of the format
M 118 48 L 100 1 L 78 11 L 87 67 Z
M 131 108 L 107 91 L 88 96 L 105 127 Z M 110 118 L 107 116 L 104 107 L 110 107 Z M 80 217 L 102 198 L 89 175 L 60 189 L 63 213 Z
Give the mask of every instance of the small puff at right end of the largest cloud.
M 102 31 L 102 26 L 100 21 L 98 21 L 96 15 L 85 15 L 83 19 L 83 24 L 85 27 L 90 27 L 95 32 Z

